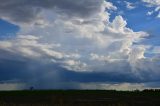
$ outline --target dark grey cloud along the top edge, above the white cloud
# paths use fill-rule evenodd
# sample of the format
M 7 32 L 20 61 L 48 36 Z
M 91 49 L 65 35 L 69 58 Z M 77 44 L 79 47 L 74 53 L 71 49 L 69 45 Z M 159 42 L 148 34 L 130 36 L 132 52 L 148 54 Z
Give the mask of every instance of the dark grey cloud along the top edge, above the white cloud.
M 30 22 L 42 9 L 56 9 L 68 16 L 87 17 L 101 10 L 104 0 L 0 0 L 0 17 Z

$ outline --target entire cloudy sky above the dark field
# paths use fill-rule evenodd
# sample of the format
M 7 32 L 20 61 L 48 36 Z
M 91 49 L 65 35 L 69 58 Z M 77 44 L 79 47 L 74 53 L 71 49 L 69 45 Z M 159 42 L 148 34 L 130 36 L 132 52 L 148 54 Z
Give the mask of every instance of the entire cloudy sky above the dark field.
M 0 2 L 0 90 L 160 88 L 159 0 Z

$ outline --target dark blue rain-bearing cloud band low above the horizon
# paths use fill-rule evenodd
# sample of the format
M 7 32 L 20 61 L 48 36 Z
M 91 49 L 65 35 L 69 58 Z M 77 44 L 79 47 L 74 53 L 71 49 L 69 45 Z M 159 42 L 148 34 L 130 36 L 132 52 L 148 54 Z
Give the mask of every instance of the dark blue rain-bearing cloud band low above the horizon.
M 141 79 L 132 72 L 122 72 L 120 69 L 119 72 L 116 69 L 112 72 L 107 72 L 107 69 L 106 72 L 75 72 L 59 63 L 26 58 L 4 50 L 0 50 L 0 54 L 3 55 L 0 57 L 0 82 L 18 81 L 36 88 L 78 89 L 79 83 L 144 83 L 157 80 L 145 76 Z M 130 70 L 129 66 L 126 70 Z

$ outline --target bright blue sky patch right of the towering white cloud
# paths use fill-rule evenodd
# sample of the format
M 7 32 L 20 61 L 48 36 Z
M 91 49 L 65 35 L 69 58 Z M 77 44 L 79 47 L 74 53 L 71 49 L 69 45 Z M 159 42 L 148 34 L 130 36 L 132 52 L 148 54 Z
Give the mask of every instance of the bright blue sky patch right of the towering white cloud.
M 160 18 L 156 17 L 158 12 L 151 16 L 147 16 L 147 12 L 154 10 L 155 7 L 146 7 L 145 3 L 142 3 L 141 1 L 128 0 L 128 2 L 135 5 L 135 8 L 130 10 L 126 7 L 124 0 L 120 2 L 117 0 L 110 1 L 112 1 L 112 3 L 118 7 L 118 12 L 115 12 L 113 15 L 111 14 L 111 19 L 113 19 L 117 14 L 121 14 L 127 20 L 127 26 L 129 28 L 132 28 L 134 31 L 145 31 L 150 34 L 151 38 L 145 43 L 160 45 L 158 40 L 160 39 Z

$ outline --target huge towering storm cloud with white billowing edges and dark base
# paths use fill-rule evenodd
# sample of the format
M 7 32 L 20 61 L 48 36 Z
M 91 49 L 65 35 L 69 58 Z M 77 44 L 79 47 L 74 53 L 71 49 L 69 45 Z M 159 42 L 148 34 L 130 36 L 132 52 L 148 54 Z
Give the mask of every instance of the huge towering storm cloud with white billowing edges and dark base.
M 115 10 L 104 0 L 1 0 L 1 18 L 20 31 L 0 41 L 0 80 L 38 88 L 159 80 L 160 60 L 135 45 L 148 34 L 127 28 L 122 16 L 110 21 Z

